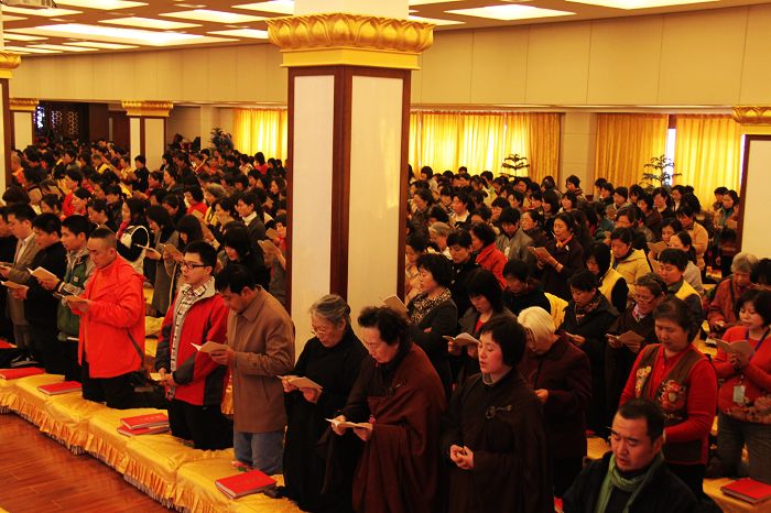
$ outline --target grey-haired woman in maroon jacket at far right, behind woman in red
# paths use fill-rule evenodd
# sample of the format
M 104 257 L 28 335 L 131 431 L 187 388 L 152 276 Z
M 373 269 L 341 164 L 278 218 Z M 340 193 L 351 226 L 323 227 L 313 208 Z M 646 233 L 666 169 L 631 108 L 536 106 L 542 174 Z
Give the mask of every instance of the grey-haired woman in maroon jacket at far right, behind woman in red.
M 753 254 L 741 252 L 734 256 L 731 275 L 717 285 L 715 297 L 707 306 L 709 331 L 714 335 L 720 336 L 739 323 L 737 301 L 752 286 L 750 276 L 756 265 L 758 265 L 758 258 Z

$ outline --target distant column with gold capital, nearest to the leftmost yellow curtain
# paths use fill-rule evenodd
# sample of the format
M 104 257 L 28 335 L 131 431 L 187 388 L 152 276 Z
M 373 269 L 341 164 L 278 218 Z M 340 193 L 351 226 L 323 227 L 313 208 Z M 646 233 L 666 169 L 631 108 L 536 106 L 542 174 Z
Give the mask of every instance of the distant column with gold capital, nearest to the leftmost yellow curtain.
M 171 101 L 121 101 L 129 117 L 129 141 L 131 159 L 144 155 L 148 168 L 161 167 L 166 151 L 166 119 L 174 108 Z

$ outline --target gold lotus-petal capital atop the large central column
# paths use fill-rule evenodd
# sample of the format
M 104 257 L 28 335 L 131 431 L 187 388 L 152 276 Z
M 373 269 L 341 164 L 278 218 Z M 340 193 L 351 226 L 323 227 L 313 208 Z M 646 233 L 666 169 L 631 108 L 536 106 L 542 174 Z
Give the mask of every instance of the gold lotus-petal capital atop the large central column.
M 351 65 L 419 69 L 419 56 L 434 42 L 431 23 L 365 14 L 325 13 L 272 18 L 268 37 L 283 66 Z

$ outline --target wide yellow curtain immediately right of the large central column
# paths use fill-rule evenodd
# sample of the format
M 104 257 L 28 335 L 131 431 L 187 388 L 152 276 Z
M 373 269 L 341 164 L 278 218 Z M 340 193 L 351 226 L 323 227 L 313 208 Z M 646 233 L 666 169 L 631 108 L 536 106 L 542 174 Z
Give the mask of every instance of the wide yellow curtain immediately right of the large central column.
M 498 173 L 503 159 L 517 153 L 531 167 L 520 175 L 540 181 L 560 167 L 560 113 L 414 111 L 410 114 L 410 163 L 415 174 L 435 172 Z

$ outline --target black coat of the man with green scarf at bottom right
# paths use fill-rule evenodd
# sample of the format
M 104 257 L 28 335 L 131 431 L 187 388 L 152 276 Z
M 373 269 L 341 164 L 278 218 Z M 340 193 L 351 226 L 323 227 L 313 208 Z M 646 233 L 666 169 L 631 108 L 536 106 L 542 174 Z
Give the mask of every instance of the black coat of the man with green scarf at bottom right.
M 602 480 L 608 473 L 608 463 L 611 452 L 607 452 L 602 459 L 593 461 L 576 478 L 562 502 L 564 513 L 595 513 L 599 490 Z M 655 474 L 648 482 L 636 501 L 629 509 L 629 513 L 698 513 L 698 502 L 693 492 L 673 474 L 666 465 L 661 465 Z

